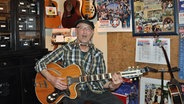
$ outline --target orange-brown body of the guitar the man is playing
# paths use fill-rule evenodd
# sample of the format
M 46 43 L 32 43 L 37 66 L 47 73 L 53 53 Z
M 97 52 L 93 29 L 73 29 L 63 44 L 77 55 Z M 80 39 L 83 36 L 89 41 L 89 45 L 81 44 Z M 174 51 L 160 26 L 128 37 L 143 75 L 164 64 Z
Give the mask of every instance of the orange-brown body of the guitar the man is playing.
M 77 65 L 70 65 L 66 68 L 62 68 L 55 63 L 48 64 L 49 72 L 57 77 L 66 78 L 68 76 L 79 77 L 81 71 Z M 63 74 L 64 73 L 64 74 Z M 75 99 L 77 97 L 76 91 L 77 83 L 73 83 L 69 86 L 70 92 L 62 92 L 55 89 L 50 82 L 45 79 L 41 73 L 37 73 L 35 78 L 35 92 L 38 100 L 42 104 L 56 104 L 61 101 L 63 97 Z M 68 94 L 69 93 L 69 94 Z M 56 94 L 56 96 L 52 96 Z M 49 98 L 52 99 L 49 99 Z

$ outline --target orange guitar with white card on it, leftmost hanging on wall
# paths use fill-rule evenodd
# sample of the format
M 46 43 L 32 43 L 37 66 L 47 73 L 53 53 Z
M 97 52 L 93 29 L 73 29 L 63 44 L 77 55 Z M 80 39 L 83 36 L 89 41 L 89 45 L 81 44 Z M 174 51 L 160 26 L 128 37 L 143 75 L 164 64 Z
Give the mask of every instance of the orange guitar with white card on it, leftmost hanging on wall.
M 56 10 L 54 10 L 52 7 L 56 8 Z M 50 14 L 48 14 L 49 12 Z M 61 25 L 61 17 L 57 12 L 58 12 L 57 3 L 52 0 L 45 0 L 45 27 L 46 28 L 58 28 Z

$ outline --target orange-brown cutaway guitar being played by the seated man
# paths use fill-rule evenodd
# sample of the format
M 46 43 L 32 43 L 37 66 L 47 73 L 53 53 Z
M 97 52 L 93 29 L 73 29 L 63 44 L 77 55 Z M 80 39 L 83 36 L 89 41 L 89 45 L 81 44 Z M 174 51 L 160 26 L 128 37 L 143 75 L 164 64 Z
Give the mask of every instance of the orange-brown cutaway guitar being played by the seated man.
M 98 75 L 82 75 L 82 71 L 79 66 L 72 64 L 66 68 L 62 68 L 56 63 L 50 63 L 47 65 L 48 71 L 56 76 L 61 78 L 66 78 L 66 83 L 68 84 L 68 89 L 61 91 L 54 88 L 50 82 L 42 76 L 41 73 L 37 73 L 35 77 L 35 92 L 36 96 L 42 104 L 57 104 L 64 97 L 70 99 L 75 99 L 78 96 L 77 85 L 79 83 L 86 83 L 104 79 L 111 79 L 112 74 L 98 74 Z M 147 72 L 148 69 L 134 69 L 130 68 L 127 71 L 119 72 L 123 78 L 135 78 L 139 77 L 143 73 Z

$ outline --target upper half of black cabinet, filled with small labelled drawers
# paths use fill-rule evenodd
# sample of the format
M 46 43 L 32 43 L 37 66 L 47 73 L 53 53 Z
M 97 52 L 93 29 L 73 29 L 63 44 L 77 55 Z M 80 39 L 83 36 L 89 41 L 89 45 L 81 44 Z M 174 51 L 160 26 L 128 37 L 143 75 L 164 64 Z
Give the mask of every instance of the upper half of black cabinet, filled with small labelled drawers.
M 43 48 L 44 0 L 0 0 L 0 51 Z

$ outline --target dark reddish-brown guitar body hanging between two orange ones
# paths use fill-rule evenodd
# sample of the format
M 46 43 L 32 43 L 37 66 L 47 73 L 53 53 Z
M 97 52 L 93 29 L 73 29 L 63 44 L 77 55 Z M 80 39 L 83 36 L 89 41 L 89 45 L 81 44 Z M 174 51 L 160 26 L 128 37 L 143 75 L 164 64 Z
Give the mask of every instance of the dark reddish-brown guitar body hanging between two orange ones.
M 64 2 L 64 12 L 62 16 L 62 25 L 64 28 L 75 27 L 75 22 L 80 20 L 80 1 L 78 0 L 66 0 Z

